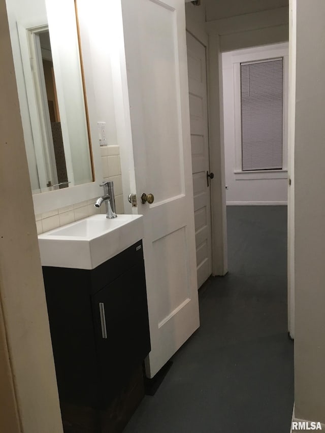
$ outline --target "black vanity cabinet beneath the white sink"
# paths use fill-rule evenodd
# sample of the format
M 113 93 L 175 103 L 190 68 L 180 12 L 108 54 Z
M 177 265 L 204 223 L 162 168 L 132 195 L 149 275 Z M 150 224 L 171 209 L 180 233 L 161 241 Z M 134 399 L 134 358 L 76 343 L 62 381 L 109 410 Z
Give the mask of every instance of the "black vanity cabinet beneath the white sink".
M 64 431 L 120 431 L 150 352 L 142 242 L 93 270 L 43 276 Z

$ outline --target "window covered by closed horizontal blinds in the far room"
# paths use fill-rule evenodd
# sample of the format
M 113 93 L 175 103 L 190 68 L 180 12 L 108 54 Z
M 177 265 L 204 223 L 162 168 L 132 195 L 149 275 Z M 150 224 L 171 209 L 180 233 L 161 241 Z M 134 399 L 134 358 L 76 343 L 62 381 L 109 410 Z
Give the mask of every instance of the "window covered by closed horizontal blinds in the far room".
M 282 169 L 283 59 L 241 63 L 242 169 Z

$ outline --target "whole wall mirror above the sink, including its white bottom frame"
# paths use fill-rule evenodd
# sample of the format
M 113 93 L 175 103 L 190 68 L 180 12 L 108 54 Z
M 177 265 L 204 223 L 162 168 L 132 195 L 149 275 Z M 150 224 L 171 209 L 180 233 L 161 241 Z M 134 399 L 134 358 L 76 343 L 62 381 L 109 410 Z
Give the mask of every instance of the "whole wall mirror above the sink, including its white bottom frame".
M 76 3 L 6 0 L 36 214 L 101 193 L 90 29 Z

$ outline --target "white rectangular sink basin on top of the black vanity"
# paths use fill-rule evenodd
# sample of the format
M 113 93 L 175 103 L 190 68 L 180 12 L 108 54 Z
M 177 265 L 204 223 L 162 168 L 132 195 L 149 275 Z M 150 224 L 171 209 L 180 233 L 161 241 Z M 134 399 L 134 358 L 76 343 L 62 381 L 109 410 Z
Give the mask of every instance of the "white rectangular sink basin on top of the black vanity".
M 39 235 L 43 266 L 94 269 L 143 238 L 142 215 L 92 215 Z

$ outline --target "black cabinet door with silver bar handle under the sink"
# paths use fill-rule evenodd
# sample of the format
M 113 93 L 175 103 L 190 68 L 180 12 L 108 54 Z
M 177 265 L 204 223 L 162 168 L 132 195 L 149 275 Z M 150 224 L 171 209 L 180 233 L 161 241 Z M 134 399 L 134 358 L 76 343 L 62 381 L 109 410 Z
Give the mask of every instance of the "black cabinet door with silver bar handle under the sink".
M 122 388 L 150 351 L 143 263 L 92 296 L 102 403 Z

